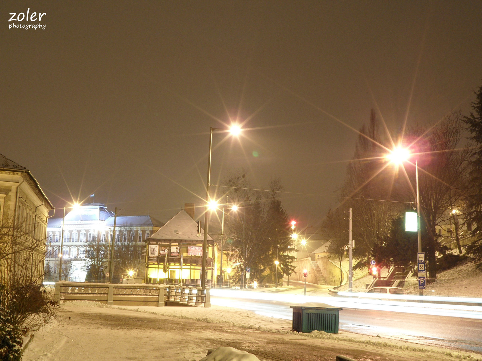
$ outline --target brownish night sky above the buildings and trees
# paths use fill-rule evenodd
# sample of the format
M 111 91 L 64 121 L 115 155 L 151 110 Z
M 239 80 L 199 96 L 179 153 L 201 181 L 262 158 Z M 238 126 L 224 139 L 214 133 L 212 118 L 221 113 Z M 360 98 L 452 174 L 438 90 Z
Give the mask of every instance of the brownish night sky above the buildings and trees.
M 46 13 L 45 30 L 8 29 L 9 13 L 27 8 Z M 396 132 L 405 117 L 467 114 L 482 84 L 482 1 L 2 1 L 0 10 L 0 153 L 56 207 L 95 192 L 121 214 L 167 221 L 184 203 L 199 206 L 209 127 L 236 121 L 248 129 L 239 140 L 214 135 L 212 183 L 244 168 L 255 188 L 280 177 L 287 192 L 334 195 L 371 108 Z M 281 198 L 308 225 L 337 201 Z

